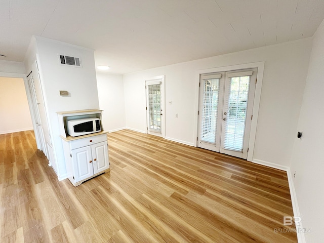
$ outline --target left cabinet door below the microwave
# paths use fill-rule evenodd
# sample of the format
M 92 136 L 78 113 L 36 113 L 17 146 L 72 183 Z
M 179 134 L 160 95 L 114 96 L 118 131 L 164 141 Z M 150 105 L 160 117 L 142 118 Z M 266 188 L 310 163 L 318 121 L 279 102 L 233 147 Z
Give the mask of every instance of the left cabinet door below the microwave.
M 94 175 L 91 146 L 72 149 L 75 182 L 87 179 Z

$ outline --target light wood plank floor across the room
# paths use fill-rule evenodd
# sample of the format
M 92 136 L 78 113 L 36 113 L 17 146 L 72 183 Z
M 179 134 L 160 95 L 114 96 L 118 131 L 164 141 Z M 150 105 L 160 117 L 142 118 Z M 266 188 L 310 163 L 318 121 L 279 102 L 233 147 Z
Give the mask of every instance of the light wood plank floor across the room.
M 57 176 L 32 131 L 0 135 L 0 242 L 297 242 L 285 172 L 129 130 L 110 173 Z

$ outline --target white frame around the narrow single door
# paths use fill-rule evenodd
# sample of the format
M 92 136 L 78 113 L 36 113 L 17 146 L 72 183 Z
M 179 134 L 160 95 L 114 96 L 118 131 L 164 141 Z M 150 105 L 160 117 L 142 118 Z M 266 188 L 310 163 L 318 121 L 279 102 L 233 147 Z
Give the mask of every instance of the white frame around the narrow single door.
M 159 76 L 153 76 L 153 77 L 150 77 L 150 78 L 147 78 L 145 79 L 145 87 L 146 87 L 146 82 L 149 82 L 149 81 L 153 81 L 153 80 L 156 80 L 156 79 L 160 79 L 161 80 L 161 84 L 160 84 L 160 93 L 161 93 L 161 113 L 163 115 L 161 115 L 161 137 L 165 138 L 166 137 L 166 110 L 165 110 L 165 103 L 166 103 L 166 95 L 165 95 L 165 75 L 159 75 Z M 147 91 L 145 89 L 145 107 L 147 107 Z M 159 136 L 159 134 L 154 134 L 154 132 L 152 133 L 149 133 L 148 131 L 148 114 L 147 114 L 147 110 L 146 110 L 146 133 L 147 134 L 153 134 L 153 135 L 156 135 L 156 136 Z

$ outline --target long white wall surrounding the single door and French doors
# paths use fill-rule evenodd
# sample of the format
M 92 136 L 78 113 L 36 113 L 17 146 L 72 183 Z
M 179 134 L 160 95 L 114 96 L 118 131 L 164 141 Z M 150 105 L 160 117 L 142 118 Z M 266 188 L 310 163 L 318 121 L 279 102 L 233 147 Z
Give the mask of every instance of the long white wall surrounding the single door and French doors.
M 146 131 L 144 80 L 166 75 L 166 137 L 193 144 L 196 71 L 265 61 L 253 158 L 280 167 L 290 164 L 305 87 L 312 39 L 302 39 L 124 75 L 126 123 Z M 172 105 L 168 104 L 172 101 Z M 175 118 L 175 114 L 179 118 Z

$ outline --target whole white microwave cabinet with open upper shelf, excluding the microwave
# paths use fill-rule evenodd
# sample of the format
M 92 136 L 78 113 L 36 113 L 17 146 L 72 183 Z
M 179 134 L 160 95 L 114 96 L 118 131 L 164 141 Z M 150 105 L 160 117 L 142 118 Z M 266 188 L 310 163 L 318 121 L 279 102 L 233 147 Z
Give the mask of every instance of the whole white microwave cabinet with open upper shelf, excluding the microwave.
M 99 118 L 102 110 L 72 110 L 57 112 L 60 137 L 62 138 L 67 177 L 74 186 L 92 177 L 108 172 L 109 158 L 107 133 L 98 133 L 71 137 L 67 134 L 66 121 L 68 119 Z

